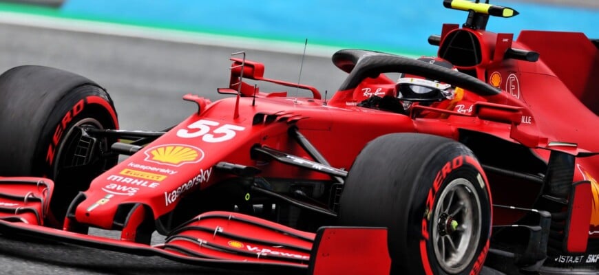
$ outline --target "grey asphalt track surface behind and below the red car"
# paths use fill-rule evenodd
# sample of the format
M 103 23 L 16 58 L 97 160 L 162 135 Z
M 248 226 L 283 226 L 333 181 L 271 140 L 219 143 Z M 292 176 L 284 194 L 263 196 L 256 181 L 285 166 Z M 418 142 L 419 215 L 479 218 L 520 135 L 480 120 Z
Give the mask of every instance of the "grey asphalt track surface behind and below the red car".
M 213 47 L 122 36 L 0 24 L 0 72 L 19 65 L 59 67 L 103 85 L 116 104 L 121 129 L 161 130 L 196 111 L 185 94 L 222 98 L 231 53 L 243 45 Z M 310 47 L 310 45 L 308 45 Z M 302 52 L 298 49 L 297 52 Z M 324 96 L 346 74 L 330 58 L 246 51 L 266 63 L 265 76 L 311 84 Z M 295 91 L 293 91 L 295 93 Z M 306 96 L 305 91 L 299 91 Z M 329 93 L 330 98 L 332 93 Z M 233 111 L 231 111 L 231 115 Z M 7 129 L 0 129 L 3 133 Z M 103 232 L 94 232 L 103 234 Z M 154 243 L 159 243 L 155 238 Z M 0 236 L 0 274 L 234 274 L 159 257 L 132 256 L 75 245 Z M 242 272 L 242 274 L 248 274 Z

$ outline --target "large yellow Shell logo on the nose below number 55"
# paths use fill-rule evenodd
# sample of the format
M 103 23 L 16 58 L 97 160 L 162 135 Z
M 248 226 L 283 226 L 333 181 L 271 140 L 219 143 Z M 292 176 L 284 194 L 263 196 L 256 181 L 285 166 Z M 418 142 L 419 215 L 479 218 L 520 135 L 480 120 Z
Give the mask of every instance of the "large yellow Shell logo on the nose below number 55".
M 146 162 L 154 162 L 169 166 L 182 166 L 200 162 L 204 151 L 196 146 L 185 144 L 164 144 L 148 148 L 145 152 Z

